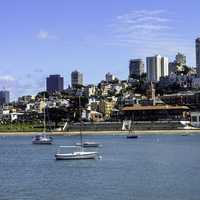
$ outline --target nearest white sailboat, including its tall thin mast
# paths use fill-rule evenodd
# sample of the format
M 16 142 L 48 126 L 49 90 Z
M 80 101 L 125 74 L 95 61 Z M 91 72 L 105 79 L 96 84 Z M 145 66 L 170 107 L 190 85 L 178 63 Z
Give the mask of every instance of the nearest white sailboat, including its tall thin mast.
M 79 109 L 80 109 L 80 97 L 79 97 Z M 80 111 L 81 122 L 81 111 Z M 66 148 L 75 148 L 72 152 L 62 152 Z M 83 136 L 80 127 L 80 146 L 60 146 L 55 154 L 56 160 L 80 160 L 80 159 L 96 159 L 98 158 L 98 152 L 85 151 L 83 147 Z

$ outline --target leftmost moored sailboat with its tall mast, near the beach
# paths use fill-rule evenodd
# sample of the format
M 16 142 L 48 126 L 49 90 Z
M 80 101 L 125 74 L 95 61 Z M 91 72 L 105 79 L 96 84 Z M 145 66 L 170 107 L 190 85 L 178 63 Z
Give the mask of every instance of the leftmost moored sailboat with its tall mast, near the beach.
M 44 102 L 45 102 L 45 96 L 44 96 Z M 53 138 L 51 136 L 48 136 L 46 134 L 46 106 L 44 106 L 44 118 L 43 118 L 43 133 L 35 135 L 32 139 L 33 144 L 52 144 Z

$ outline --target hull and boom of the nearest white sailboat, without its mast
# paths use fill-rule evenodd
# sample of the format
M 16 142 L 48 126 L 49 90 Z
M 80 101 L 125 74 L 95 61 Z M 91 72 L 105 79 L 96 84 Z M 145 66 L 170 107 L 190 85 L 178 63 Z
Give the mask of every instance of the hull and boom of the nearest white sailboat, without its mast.
M 64 148 L 78 148 L 70 153 L 62 152 Z M 82 147 L 78 146 L 60 146 L 55 154 L 56 160 L 82 160 L 82 159 L 96 159 L 98 158 L 97 152 L 84 151 Z

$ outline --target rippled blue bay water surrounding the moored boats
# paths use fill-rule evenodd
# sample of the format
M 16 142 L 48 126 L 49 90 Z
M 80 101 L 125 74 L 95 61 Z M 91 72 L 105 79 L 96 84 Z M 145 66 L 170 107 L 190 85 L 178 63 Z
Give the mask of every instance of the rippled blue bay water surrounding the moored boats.
M 0 200 L 199 200 L 200 135 L 87 136 L 103 144 L 102 160 L 56 161 L 59 145 L 0 137 Z

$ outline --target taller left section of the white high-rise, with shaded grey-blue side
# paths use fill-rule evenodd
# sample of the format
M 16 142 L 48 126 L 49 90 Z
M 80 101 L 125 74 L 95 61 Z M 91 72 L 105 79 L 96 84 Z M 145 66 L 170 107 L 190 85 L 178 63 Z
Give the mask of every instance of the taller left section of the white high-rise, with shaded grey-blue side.
M 161 76 L 161 56 L 146 58 L 147 78 L 149 81 L 159 81 Z

